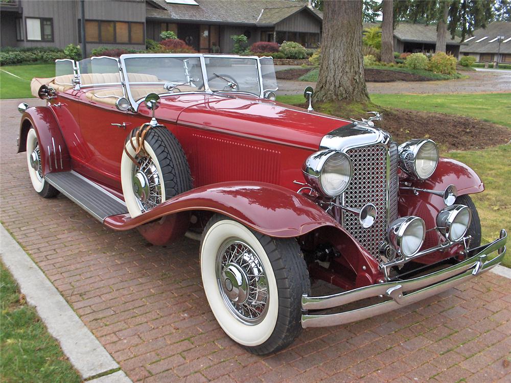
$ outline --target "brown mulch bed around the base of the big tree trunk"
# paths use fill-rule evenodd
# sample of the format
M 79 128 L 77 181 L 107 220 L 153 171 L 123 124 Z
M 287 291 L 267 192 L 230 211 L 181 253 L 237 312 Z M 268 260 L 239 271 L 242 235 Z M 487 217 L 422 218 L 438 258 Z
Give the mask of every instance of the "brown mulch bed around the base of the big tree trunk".
M 296 106 L 305 109 L 308 105 Z M 315 110 L 321 111 L 317 107 Z M 430 138 L 442 152 L 490 148 L 505 145 L 511 140 L 511 130 L 506 127 L 471 117 L 408 109 L 378 110 L 383 113 L 383 122 L 376 122 L 376 126 L 389 132 L 392 139 L 399 143 L 412 138 Z M 345 119 L 360 119 L 360 116 L 336 115 Z

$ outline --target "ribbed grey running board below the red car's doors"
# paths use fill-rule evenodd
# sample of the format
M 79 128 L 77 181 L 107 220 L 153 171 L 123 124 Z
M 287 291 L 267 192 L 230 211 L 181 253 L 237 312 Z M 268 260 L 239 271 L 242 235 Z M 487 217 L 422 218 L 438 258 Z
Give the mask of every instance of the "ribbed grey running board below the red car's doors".
M 128 212 L 122 200 L 76 172 L 50 173 L 44 179 L 100 222 Z

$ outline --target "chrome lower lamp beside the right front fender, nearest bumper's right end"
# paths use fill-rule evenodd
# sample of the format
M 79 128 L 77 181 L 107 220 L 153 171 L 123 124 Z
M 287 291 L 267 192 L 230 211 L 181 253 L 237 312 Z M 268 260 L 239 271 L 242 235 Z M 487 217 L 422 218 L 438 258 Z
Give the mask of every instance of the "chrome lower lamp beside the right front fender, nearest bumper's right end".
M 436 216 L 436 227 L 449 241 L 457 242 L 463 238 L 472 221 L 472 210 L 464 205 L 448 206 Z

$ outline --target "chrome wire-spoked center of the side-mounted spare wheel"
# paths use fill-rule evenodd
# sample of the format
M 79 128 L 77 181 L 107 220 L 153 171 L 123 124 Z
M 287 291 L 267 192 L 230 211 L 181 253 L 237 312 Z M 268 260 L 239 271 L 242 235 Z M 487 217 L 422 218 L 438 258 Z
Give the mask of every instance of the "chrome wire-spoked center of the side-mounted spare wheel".
M 138 159 L 133 166 L 133 193 L 141 210 L 147 211 L 162 201 L 161 183 L 158 169 L 150 156 Z

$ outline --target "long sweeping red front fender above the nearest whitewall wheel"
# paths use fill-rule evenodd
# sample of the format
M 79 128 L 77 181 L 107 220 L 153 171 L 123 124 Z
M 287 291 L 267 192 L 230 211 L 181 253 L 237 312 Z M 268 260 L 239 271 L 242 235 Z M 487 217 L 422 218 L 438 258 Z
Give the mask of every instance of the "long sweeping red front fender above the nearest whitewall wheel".
M 114 230 L 129 230 L 192 210 L 223 214 L 271 237 L 302 237 L 316 231 L 346 257 L 347 267 L 357 275 L 364 270 L 367 275 L 361 281 L 363 285 L 373 283 L 381 275 L 376 260 L 322 208 L 290 189 L 263 182 L 235 181 L 197 187 L 135 218 L 120 214 L 107 217 L 104 224 Z

